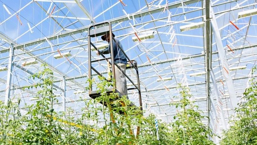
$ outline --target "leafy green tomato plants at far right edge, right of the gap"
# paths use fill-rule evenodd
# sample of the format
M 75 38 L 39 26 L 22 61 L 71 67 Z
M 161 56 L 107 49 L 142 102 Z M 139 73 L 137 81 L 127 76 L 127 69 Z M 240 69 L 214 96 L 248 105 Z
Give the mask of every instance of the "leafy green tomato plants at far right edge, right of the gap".
M 256 70 L 253 68 L 252 73 Z M 223 133 L 221 145 L 257 145 L 257 82 L 253 78 L 251 86 L 244 92 L 242 102 L 235 109 L 237 116 L 233 125 Z

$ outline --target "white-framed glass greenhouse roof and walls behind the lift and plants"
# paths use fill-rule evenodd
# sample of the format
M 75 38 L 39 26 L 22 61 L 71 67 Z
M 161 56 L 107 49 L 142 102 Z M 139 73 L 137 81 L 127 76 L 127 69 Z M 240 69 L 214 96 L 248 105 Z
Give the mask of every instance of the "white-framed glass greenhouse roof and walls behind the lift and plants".
M 0 0 L 0 99 L 34 104 L 40 82 L 29 76 L 47 64 L 54 72 L 54 108 L 79 115 L 88 91 L 88 28 L 110 22 L 115 38 L 136 60 L 145 114 L 171 122 L 178 86 L 211 118 L 227 128 L 249 80 L 256 77 L 255 0 Z M 207 7 L 206 7 L 207 5 Z M 99 49 L 108 46 L 91 38 Z M 92 59 L 100 59 L 93 49 Z M 107 75 L 106 62 L 94 62 Z M 137 81 L 135 71 L 126 74 Z M 93 78 L 97 74 L 93 72 Z M 127 84 L 132 87 L 131 83 Z M 139 105 L 138 92 L 128 97 Z M 205 120 L 207 122 L 207 120 Z

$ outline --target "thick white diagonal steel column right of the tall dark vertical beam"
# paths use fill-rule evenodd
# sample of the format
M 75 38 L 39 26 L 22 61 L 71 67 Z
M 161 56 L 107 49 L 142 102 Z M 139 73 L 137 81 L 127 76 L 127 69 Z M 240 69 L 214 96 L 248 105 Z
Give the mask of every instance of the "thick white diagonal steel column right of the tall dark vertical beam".
M 227 89 L 228 89 L 228 92 L 229 92 L 232 108 L 235 109 L 235 107 L 237 107 L 237 97 L 236 97 L 236 94 L 235 94 L 235 88 L 234 88 L 234 85 L 233 85 L 233 81 L 232 81 L 232 78 L 230 76 L 229 63 L 227 61 L 225 51 L 223 49 L 221 35 L 219 33 L 219 28 L 218 28 L 218 24 L 217 24 L 215 15 L 214 15 L 213 7 L 210 7 L 210 16 L 211 16 L 211 26 L 213 28 L 213 35 L 214 35 L 214 38 L 215 38 L 215 41 L 216 41 L 216 46 L 217 46 L 220 62 L 221 62 L 221 65 L 223 67 L 222 68 L 222 74 L 223 74 L 223 76 L 225 77 L 225 80 L 226 80 L 226 85 L 227 85 Z

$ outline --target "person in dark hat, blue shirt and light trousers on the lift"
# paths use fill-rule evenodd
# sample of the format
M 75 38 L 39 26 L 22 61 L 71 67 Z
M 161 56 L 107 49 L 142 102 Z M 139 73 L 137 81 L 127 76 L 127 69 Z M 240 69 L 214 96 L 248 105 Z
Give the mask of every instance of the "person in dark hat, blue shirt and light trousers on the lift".
M 112 33 L 112 36 L 115 37 L 113 33 Z M 100 52 L 103 54 L 111 53 L 110 34 L 103 35 L 101 38 L 102 40 L 107 41 L 109 43 L 109 46 L 104 50 L 100 50 Z M 117 44 L 123 50 L 123 47 L 120 41 L 116 38 L 113 38 L 113 39 L 117 42 Z M 121 68 L 121 70 L 126 73 L 126 64 L 127 64 L 126 56 L 120 50 L 120 47 L 118 47 L 118 45 L 114 40 L 112 40 L 114 61 Z M 99 52 L 96 52 L 96 54 L 100 55 Z M 116 79 L 116 89 L 120 92 L 122 96 L 127 95 L 128 90 L 127 90 L 126 76 L 120 71 L 120 69 L 116 65 L 114 65 L 114 70 L 115 70 L 115 79 Z

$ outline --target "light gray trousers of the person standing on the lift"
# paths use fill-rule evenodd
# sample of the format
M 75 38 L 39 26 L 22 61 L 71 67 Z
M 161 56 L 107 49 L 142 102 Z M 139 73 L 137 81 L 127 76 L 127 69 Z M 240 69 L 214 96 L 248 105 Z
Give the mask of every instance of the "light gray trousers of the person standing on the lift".
M 126 64 L 118 63 L 117 64 L 123 72 L 126 73 Z M 120 92 L 120 94 L 128 95 L 126 76 L 120 71 L 120 69 L 114 65 L 115 68 L 115 79 L 116 79 L 116 89 Z

